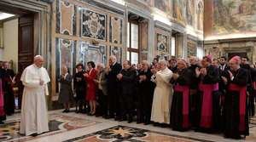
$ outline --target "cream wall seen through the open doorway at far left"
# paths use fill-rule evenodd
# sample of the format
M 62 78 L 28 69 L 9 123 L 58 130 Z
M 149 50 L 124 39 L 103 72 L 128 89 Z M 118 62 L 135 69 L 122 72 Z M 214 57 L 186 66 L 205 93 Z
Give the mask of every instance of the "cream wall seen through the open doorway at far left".
M 14 60 L 15 72 L 18 69 L 18 19 L 3 23 L 3 60 Z

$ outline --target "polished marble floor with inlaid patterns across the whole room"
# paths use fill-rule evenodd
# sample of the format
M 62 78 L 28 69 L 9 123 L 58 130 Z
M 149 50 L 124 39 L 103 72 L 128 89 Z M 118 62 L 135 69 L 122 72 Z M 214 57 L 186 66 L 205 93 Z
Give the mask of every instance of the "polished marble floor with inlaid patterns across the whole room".
M 74 112 L 49 111 L 49 132 L 37 137 L 20 135 L 20 114 L 9 116 L 0 125 L 0 141 L 33 142 L 256 142 L 256 117 L 251 120 L 250 135 L 246 139 L 224 139 L 221 134 L 198 133 L 195 131 L 177 132 L 170 128 L 157 128 L 153 125 L 136 122 L 115 122 L 102 117 L 87 116 Z

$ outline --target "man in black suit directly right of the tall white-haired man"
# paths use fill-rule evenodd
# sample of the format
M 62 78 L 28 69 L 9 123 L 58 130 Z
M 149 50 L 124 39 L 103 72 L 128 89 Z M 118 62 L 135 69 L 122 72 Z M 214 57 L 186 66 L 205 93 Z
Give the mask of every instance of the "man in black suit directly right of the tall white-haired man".
M 118 116 L 119 121 L 126 120 L 128 116 L 128 122 L 132 122 L 132 94 L 135 93 L 135 85 L 137 71 L 131 67 L 131 62 L 125 60 L 123 62 L 123 70 L 117 75 L 120 84 L 119 94 L 119 106 L 120 113 Z

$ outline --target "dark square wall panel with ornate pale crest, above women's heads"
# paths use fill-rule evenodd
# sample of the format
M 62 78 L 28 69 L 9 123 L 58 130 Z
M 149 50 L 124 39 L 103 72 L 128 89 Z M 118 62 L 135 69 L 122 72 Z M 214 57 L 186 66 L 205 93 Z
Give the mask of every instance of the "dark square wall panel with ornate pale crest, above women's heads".
M 90 37 L 106 41 L 106 21 L 105 14 L 98 14 L 89 9 L 82 10 L 82 37 Z

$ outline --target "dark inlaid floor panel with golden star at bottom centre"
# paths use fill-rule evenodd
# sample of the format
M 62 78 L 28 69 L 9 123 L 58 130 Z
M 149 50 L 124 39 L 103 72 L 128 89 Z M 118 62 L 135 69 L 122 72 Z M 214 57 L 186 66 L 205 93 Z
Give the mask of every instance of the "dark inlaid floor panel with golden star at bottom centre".
M 201 139 L 202 140 L 202 139 Z M 125 126 L 115 126 L 108 128 L 96 133 L 90 133 L 74 139 L 68 139 L 64 142 L 120 142 L 120 141 L 131 141 L 131 142 L 192 142 L 195 140 L 185 139 L 182 137 L 174 137 L 162 133 L 155 133 L 141 128 L 130 128 Z M 204 141 L 204 140 L 203 140 Z

